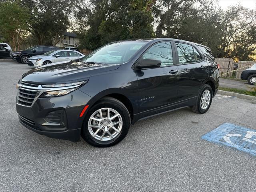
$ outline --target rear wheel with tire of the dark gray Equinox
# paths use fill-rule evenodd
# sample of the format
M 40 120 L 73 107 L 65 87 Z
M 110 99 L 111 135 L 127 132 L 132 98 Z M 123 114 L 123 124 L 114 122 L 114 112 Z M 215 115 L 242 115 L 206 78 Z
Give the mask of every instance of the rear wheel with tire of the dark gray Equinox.
M 195 113 L 203 114 L 208 111 L 212 104 L 212 88 L 208 84 L 204 84 L 200 89 L 196 104 L 192 106 Z

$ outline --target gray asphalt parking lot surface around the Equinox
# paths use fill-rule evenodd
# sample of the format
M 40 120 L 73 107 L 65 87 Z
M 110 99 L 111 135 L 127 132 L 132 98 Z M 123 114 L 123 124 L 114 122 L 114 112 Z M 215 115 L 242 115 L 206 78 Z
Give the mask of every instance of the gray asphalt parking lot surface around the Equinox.
M 1 192 L 255 191 L 256 157 L 201 137 L 223 123 L 256 128 L 256 105 L 217 95 L 142 120 L 109 148 L 41 136 L 18 122 L 16 83 L 27 65 L 0 60 Z

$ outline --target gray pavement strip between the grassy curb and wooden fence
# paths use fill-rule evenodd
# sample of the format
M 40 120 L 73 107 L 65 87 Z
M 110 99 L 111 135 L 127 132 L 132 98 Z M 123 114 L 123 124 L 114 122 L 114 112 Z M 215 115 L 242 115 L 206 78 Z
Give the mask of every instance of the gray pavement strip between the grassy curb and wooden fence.
M 247 81 L 242 82 L 242 81 L 236 81 L 236 80 L 231 80 L 231 79 L 223 79 L 223 78 L 220 78 L 219 86 L 220 87 L 225 87 L 225 88 L 243 89 L 243 90 L 248 90 L 248 91 L 251 91 L 250 88 L 254 87 L 254 85 L 248 84 Z

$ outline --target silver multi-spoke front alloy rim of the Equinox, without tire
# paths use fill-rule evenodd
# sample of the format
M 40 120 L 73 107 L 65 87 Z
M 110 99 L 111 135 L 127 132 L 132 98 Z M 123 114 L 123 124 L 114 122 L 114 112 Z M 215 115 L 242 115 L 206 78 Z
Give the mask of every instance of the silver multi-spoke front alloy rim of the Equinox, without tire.
M 88 130 L 96 140 L 109 141 L 120 134 L 122 125 L 122 117 L 116 110 L 101 108 L 90 116 Z

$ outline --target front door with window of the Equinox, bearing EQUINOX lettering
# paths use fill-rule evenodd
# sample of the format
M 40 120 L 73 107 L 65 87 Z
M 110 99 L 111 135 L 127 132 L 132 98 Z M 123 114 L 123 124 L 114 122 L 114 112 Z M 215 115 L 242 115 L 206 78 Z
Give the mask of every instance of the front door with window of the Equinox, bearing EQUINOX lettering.
M 161 66 L 136 71 L 139 119 L 173 108 L 178 90 L 178 68 L 173 66 L 173 53 L 171 42 L 159 42 L 142 55 L 142 59 L 161 60 Z

